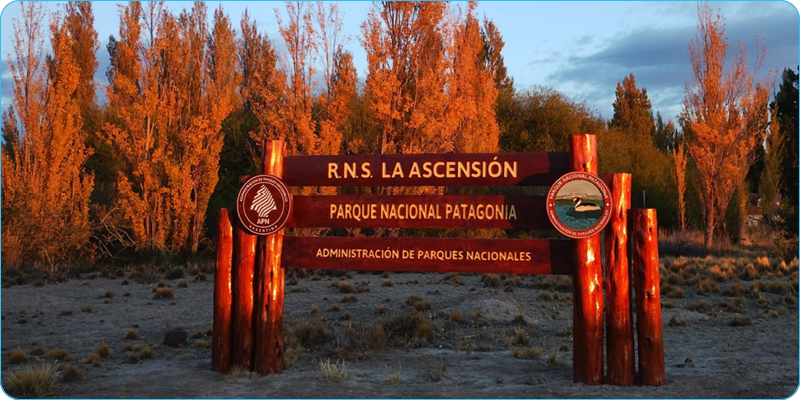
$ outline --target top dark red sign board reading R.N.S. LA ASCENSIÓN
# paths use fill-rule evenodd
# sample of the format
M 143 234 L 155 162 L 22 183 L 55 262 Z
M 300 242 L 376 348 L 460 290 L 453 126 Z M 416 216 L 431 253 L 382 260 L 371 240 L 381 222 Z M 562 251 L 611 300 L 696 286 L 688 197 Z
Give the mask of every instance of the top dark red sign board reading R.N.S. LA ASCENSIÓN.
M 289 186 L 550 186 L 569 153 L 286 157 Z

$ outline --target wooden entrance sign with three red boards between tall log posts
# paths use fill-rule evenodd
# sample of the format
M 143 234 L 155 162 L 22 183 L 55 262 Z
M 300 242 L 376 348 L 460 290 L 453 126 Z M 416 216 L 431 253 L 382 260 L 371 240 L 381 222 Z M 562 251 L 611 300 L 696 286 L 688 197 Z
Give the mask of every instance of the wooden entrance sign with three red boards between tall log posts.
M 583 207 L 597 206 L 599 201 L 601 212 L 597 213 L 597 218 L 589 219 L 586 229 L 580 229 L 585 232 L 577 240 L 284 237 L 282 226 L 277 229 L 245 228 L 240 220 L 269 223 L 278 214 L 284 215 L 279 211 L 284 207 L 290 211 L 285 226 L 294 228 L 550 230 L 553 225 L 547 218 L 548 198 L 543 196 L 286 196 L 278 189 L 262 190 L 259 185 L 267 185 L 270 179 L 251 178 L 248 182 L 257 181 L 259 184 L 245 183 L 241 192 L 244 200 L 241 204 L 237 202 L 240 218 L 234 224 L 233 272 L 226 272 L 224 262 L 218 261 L 217 267 L 220 283 L 216 286 L 221 287 L 222 296 L 225 278 L 219 275 L 227 273 L 234 277 L 235 322 L 232 349 L 228 350 L 233 355 L 232 364 L 259 373 L 282 371 L 284 268 L 561 274 L 573 275 L 574 380 L 587 384 L 603 383 L 603 286 L 598 233 L 605 222 L 613 218 L 615 205 L 609 203 L 610 190 L 596 175 L 596 150 L 593 135 L 573 136 L 569 153 L 284 157 L 285 145 L 282 142 L 268 142 L 264 148 L 262 173 L 290 187 L 550 186 L 565 174 L 577 171 L 580 179 L 595 182 L 597 192 L 603 194 L 598 200 L 591 193 L 581 192 L 572 196 L 577 199 L 570 200 L 573 203 L 569 207 L 564 208 L 562 204 L 561 211 L 587 211 L 581 203 Z M 273 186 L 270 187 L 274 189 L 281 185 Z M 579 189 L 575 190 L 580 192 Z M 557 194 L 561 196 L 559 201 L 567 199 L 567 194 Z M 242 210 L 250 215 L 241 217 Z M 572 217 L 585 219 L 590 214 Z M 253 261 L 244 259 L 251 249 L 248 240 L 253 237 L 248 232 L 261 235 L 258 245 L 252 247 L 256 253 L 254 270 Z M 224 241 L 224 236 L 220 235 L 219 240 Z M 224 244 L 218 246 L 224 249 Z M 611 278 L 617 279 L 616 275 Z M 249 292 L 245 288 L 248 285 Z M 224 310 L 218 311 L 217 308 L 215 322 L 218 312 L 220 324 L 224 324 Z M 254 322 L 248 328 L 245 320 Z M 241 349 L 247 342 L 237 342 L 238 339 L 247 339 L 247 335 L 241 332 L 243 329 L 251 332 L 251 349 Z M 222 344 L 218 344 L 224 341 L 224 332 L 220 328 L 218 335 L 215 324 L 214 343 L 220 346 L 215 349 L 215 355 L 226 351 Z M 251 358 L 247 358 L 247 354 L 251 354 Z M 217 358 L 215 356 L 213 368 L 226 370 L 224 360 L 217 361 Z

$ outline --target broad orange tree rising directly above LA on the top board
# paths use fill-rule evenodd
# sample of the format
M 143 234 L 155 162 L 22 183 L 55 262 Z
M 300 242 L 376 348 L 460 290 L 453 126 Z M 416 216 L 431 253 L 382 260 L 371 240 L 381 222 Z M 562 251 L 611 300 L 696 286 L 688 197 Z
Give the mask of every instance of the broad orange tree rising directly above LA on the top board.
M 443 32 L 447 4 L 387 1 L 373 5 L 361 25 L 367 52 L 366 96 L 384 153 L 454 150 L 445 82 L 451 49 Z

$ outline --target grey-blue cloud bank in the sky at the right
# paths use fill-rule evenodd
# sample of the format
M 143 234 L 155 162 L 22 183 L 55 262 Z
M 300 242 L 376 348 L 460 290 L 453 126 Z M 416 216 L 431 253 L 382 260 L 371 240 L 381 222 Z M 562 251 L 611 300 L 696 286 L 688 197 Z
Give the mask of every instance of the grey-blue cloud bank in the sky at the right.
M 752 64 L 754 38 L 758 36 L 767 47 L 765 70 L 797 64 L 796 13 L 773 8 L 771 13 L 728 20 L 726 28 L 726 37 L 731 43 L 729 56 L 735 53 L 736 42 L 741 38 Z M 594 53 L 571 56 L 562 61 L 546 77 L 546 84 L 585 99 L 590 107 L 610 118 L 617 82 L 633 73 L 637 86 L 647 88 L 654 111 L 661 111 L 665 118 L 674 118 L 680 112 L 685 83 L 691 78 L 688 43 L 694 36 L 694 21 L 682 26 L 644 27 L 620 33 L 598 44 Z M 585 38 L 579 38 L 575 45 L 584 42 Z M 766 72 L 762 71 L 762 74 Z

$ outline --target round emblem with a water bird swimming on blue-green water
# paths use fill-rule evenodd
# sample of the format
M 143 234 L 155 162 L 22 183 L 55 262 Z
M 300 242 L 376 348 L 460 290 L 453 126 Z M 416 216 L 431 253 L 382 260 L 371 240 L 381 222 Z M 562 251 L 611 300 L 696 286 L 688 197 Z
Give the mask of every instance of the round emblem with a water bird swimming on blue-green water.
M 547 216 L 565 236 L 594 236 L 611 218 L 611 191 L 595 174 L 567 173 L 547 193 Z

